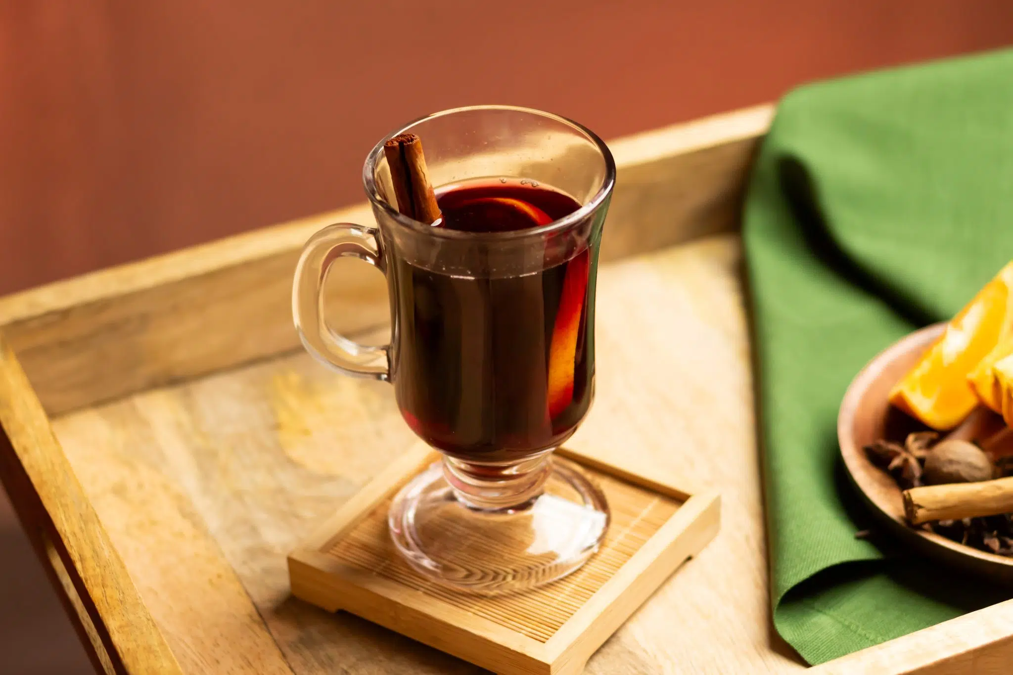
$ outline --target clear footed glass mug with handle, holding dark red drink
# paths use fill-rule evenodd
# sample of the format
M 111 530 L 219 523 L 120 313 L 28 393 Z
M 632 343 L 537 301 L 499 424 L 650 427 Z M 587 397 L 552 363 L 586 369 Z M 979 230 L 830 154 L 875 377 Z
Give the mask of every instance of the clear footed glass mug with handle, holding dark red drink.
M 579 207 L 505 232 L 413 221 L 391 205 L 383 150 L 409 132 L 438 196 L 498 179 L 551 186 Z M 608 528 L 604 495 L 552 450 L 594 395 L 596 273 L 615 173 L 601 139 L 563 117 L 510 106 L 438 112 L 369 154 L 363 182 L 379 227 L 331 225 L 302 252 L 293 315 L 307 351 L 338 372 L 391 383 L 404 420 L 444 455 L 400 490 L 388 523 L 405 560 L 445 585 L 498 593 L 551 582 L 583 565 Z M 322 289 L 342 257 L 386 275 L 389 345 L 328 328 Z

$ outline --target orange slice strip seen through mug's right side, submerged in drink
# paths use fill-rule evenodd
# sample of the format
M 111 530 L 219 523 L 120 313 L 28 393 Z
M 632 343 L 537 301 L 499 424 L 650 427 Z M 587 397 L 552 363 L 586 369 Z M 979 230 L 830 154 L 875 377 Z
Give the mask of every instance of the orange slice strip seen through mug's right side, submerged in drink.
M 573 369 L 576 366 L 576 339 L 580 334 L 583 297 L 588 290 L 590 251 L 585 249 L 566 263 L 559 312 L 552 327 L 549 345 L 549 418 L 566 410 L 573 400 Z

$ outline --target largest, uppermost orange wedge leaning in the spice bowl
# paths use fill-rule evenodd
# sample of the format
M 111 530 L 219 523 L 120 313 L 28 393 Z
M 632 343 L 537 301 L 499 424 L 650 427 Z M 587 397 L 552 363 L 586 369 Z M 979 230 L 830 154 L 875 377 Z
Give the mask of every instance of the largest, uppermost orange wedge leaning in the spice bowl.
M 979 397 L 968 375 L 1011 333 L 1011 289 L 1013 263 L 953 317 L 890 392 L 890 403 L 938 430 L 951 429 L 970 414 Z

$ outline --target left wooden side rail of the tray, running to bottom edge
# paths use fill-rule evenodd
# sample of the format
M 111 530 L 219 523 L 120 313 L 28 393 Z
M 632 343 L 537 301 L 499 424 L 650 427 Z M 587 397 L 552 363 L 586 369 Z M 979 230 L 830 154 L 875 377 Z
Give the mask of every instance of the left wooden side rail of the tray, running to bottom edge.
M 4 481 L 11 483 L 8 477 L 23 471 L 45 509 L 45 555 L 64 586 L 62 597 L 80 617 L 79 626 L 93 647 L 96 665 L 110 673 L 179 673 L 176 660 L 54 436 L 24 371 L 2 337 L 0 425 L 10 446 L 5 453 Z M 16 456 L 17 466 L 13 466 L 11 454 Z

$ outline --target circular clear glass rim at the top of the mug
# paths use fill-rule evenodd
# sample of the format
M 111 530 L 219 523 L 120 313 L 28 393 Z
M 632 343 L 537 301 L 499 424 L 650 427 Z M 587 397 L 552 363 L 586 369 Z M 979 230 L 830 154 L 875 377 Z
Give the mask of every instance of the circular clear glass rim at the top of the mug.
M 421 223 L 414 219 L 404 216 L 399 210 L 394 208 L 387 202 L 386 199 L 380 194 L 379 189 L 376 184 L 376 164 L 383 153 L 384 144 L 390 141 L 395 136 L 399 134 L 404 134 L 411 128 L 415 126 L 419 122 L 425 121 L 426 119 L 435 119 L 437 117 L 445 117 L 447 115 L 456 114 L 459 112 L 470 112 L 473 110 L 510 110 L 514 112 L 527 112 L 531 114 L 536 114 L 542 117 L 548 117 L 550 119 L 555 119 L 564 124 L 572 126 L 586 135 L 598 148 L 599 152 L 602 154 L 602 158 L 605 160 L 605 178 L 602 180 L 601 187 L 595 195 L 588 199 L 586 203 L 580 204 L 580 207 L 571 214 L 568 214 L 558 220 L 552 221 L 546 225 L 540 225 L 534 228 L 528 228 L 525 230 L 511 230 L 508 232 L 464 232 L 460 230 L 451 230 L 449 228 L 434 228 L 432 225 L 426 223 Z M 605 142 L 599 138 L 597 134 L 581 124 L 580 122 L 573 121 L 568 117 L 563 117 L 552 112 L 546 112 L 545 110 L 539 110 L 537 108 L 527 108 L 518 105 L 466 105 L 457 108 L 448 108 L 446 110 L 440 110 L 439 112 L 434 112 L 432 114 L 423 115 L 416 119 L 409 121 L 408 123 L 400 126 L 394 132 L 391 132 L 370 151 L 370 154 L 366 157 L 366 164 L 363 165 L 363 185 L 366 188 L 366 195 L 369 197 L 373 204 L 386 213 L 390 218 L 400 225 L 417 232 L 419 234 L 424 234 L 430 237 L 439 237 L 443 239 L 458 239 L 458 240 L 481 240 L 481 241 L 503 241 L 511 239 L 523 239 L 525 237 L 537 237 L 547 234 L 552 234 L 554 232 L 559 232 L 566 230 L 568 227 L 583 221 L 590 214 L 594 213 L 601 206 L 602 202 L 609 196 L 612 192 L 612 188 L 616 183 L 616 162 L 612 157 L 612 152 L 609 147 L 605 145 Z

